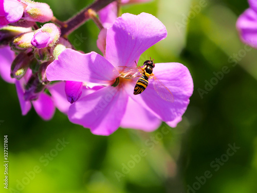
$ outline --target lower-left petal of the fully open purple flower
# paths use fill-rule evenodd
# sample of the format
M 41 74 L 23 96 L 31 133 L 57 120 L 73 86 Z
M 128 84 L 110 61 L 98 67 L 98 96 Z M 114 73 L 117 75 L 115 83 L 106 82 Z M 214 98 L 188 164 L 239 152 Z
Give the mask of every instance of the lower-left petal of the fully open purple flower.
M 127 99 L 123 90 L 106 86 L 72 104 L 68 117 L 96 135 L 110 135 L 120 126 Z

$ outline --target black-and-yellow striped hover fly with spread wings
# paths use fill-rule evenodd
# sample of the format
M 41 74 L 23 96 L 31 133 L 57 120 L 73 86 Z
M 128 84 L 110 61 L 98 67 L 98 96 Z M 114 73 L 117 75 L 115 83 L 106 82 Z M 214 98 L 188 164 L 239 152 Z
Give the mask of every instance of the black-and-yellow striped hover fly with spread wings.
M 154 59 L 153 59 L 154 60 Z M 154 90 L 163 99 L 169 102 L 174 102 L 174 97 L 170 90 L 163 85 L 163 83 L 153 74 L 153 68 L 155 64 L 153 60 L 146 60 L 143 63 L 143 67 L 128 67 L 128 66 L 118 66 L 113 69 L 113 72 L 121 78 L 132 79 L 135 77 L 140 77 L 137 80 L 134 89 L 134 95 L 142 93 L 148 86 L 148 79 L 154 79 Z M 136 61 L 135 61 L 136 63 Z M 136 63 L 137 65 L 137 63 Z

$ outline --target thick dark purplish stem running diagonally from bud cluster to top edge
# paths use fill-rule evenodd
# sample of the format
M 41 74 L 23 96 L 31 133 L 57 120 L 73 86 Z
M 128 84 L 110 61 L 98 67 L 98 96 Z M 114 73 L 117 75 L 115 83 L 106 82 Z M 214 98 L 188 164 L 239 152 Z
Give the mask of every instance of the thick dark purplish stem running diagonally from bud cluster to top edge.
M 61 27 L 61 36 L 67 36 L 69 33 L 80 27 L 82 24 L 84 24 L 88 19 L 90 19 L 88 14 L 88 9 L 94 10 L 95 12 L 98 12 L 108 4 L 114 2 L 116 0 L 97 0 L 89 7 L 86 7 L 81 12 L 79 12 L 77 15 L 69 19 L 65 22 L 65 26 Z

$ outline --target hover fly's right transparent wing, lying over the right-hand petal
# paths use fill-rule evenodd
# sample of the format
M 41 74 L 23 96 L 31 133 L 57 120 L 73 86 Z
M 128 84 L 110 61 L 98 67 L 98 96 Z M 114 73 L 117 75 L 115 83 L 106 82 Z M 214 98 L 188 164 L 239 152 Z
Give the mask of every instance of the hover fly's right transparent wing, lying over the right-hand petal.
M 163 99 L 169 102 L 174 102 L 174 96 L 170 92 L 170 90 L 163 85 L 163 83 L 155 76 L 152 75 L 154 78 L 154 90 L 155 92 Z

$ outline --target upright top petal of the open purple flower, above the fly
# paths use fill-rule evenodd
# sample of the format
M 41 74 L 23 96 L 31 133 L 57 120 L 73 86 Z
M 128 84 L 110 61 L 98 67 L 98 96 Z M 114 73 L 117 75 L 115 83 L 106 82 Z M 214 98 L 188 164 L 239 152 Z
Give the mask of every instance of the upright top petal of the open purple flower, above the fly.
M 114 66 L 134 66 L 146 49 L 166 37 L 165 26 L 155 16 L 124 13 L 107 29 L 106 59 Z

